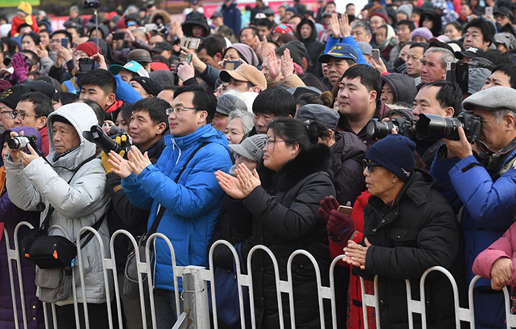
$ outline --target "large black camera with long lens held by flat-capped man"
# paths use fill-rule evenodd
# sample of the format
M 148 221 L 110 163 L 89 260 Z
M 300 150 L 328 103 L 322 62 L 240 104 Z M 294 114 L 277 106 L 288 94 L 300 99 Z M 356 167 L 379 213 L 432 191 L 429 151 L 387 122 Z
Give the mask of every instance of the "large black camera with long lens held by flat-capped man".
M 420 114 L 416 123 L 418 139 L 438 140 L 441 138 L 458 141 L 458 128 L 464 128 L 470 143 L 478 140 L 480 135 L 480 116 L 473 112 L 462 112 L 458 117 L 442 117 L 436 114 Z

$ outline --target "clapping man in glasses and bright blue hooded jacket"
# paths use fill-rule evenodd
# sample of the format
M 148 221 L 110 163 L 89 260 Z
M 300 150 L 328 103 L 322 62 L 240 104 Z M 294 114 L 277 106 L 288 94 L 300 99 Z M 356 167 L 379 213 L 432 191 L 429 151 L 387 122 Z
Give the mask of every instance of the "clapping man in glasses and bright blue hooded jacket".
M 157 231 L 171 240 L 179 266 L 208 265 L 206 249 L 224 203 L 224 191 L 214 172 L 227 172 L 231 160 L 224 133 L 210 125 L 216 106 L 215 96 L 202 87 L 180 87 L 171 109 L 166 110 L 171 135 L 164 137 L 165 148 L 155 165 L 136 147 L 129 151 L 129 161 L 114 152 L 110 155 L 129 201 L 151 211 L 147 230 L 160 207 L 166 209 Z M 204 142 L 207 144 L 199 148 Z M 170 328 L 177 321 L 171 254 L 162 239 L 155 240 L 154 250 L 156 321 L 158 328 Z M 182 280 L 178 281 L 182 291 Z

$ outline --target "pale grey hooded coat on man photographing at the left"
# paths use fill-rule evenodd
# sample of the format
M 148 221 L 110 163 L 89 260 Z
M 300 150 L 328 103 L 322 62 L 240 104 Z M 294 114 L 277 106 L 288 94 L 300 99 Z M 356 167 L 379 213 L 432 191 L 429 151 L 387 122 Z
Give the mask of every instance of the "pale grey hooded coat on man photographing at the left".
M 59 115 L 68 120 L 80 138 L 80 144 L 56 157 L 52 124 Z M 62 106 L 48 116 L 50 153 L 47 157 L 52 168 L 42 157 L 32 160 L 23 168 L 21 163 L 14 163 L 6 157 L 7 189 L 12 203 L 27 211 L 36 210 L 36 205 L 43 202 L 45 210 L 40 220 L 47 215 L 50 205 L 55 211 L 50 217 L 49 225 L 60 225 L 61 229 L 51 228 L 49 236 L 59 235 L 76 240 L 78 231 L 85 226 L 92 226 L 102 218 L 109 206 L 110 198 L 105 190 L 106 173 L 100 159 L 91 159 L 96 152 L 96 145 L 83 137 L 83 131 L 98 124 L 91 107 L 84 103 L 72 103 Z M 90 160 L 89 160 L 90 159 Z M 87 161 L 89 160 L 89 161 Z M 80 166 L 84 163 L 83 166 Z M 80 168 L 73 172 L 72 169 Z M 102 238 L 104 251 L 109 254 L 109 231 L 104 220 L 98 233 Z M 78 302 L 101 304 L 107 302 L 106 282 L 100 249 L 95 241 L 89 242 L 82 249 L 85 276 L 85 293 L 80 288 L 80 273 L 74 266 L 75 284 Z M 109 274 L 110 291 L 113 291 L 112 277 Z M 59 302 L 58 305 L 72 304 L 73 299 Z

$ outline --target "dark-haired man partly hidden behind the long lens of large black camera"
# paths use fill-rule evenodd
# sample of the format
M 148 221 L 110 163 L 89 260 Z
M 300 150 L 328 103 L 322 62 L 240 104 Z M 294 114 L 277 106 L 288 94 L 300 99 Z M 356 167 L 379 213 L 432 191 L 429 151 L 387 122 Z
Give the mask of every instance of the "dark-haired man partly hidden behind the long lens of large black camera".
M 424 84 L 414 100 L 412 117 L 413 133 L 416 131 L 416 123 L 419 121 L 420 114 L 435 114 L 442 117 L 456 117 L 462 111 L 462 91 L 458 84 L 449 81 L 434 81 Z M 418 139 L 416 141 L 416 151 L 421 156 L 422 161 L 427 165 L 427 170 L 436 157 L 436 151 L 444 144 L 442 139 Z

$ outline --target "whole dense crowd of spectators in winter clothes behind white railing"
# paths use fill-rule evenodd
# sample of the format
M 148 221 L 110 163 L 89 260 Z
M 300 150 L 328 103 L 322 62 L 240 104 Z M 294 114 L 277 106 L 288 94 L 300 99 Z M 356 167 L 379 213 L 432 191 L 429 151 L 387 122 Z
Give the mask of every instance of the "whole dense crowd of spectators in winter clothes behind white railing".
M 0 326 L 23 321 L 2 236 L 22 245 L 27 228 L 13 234 L 23 220 L 72 242 L 94 227 L 106 255 L 118 229 L 157 231 L 179 266 L 208 267 L 213 244 L 227 240 L 239 259 L 217 245 L 213 266 L 227 280 L 250 258 L 257 328 L 290 328 L 292 317 L 296 328 L 320 328 L 314 264 L 288 265 L 297 249 L 314 256 L 325 286 L 344 256 L 331 273 L 336 314 L 323 304 L 327 328 L 332 318 L 375 328 L 376 317 L 408 328 L 405 280 L 417 299 L 431 266 L 453 275 L 462 307 L 481 275 L 475 327 L 506 328 L 501 290 L 516 286 L 516 5 L 374 0 L 337 12 L 326 0 L 316 10 L 235 2 L 209 19 L 200 0 L 179 16 L 152 2 L 98 17 L 74 5 L 60 30 L 23 1 L 0 16 Z M 99 130 L 109 148 L 92 138 Z M 125 286 L 129 238 L 114 240 L 118 277 L 107 279 L 100 245 L 78 238 L 84 291 L 73 261 L 45 269 L 21 254 L 28 328 L 44 328 L 42 302 L 56 304 L 58 328 L 85 318 L 109 326 L 116 302 L 106 291 Z M 156 325 L 171 328 L 182 280 L 175 286 L 163 239 L 152 252 Z M 292 282 L 294 314 L 287 295 L 278 304 L 277 275 Z M 375 275 L 380 305 L 365 324 L 359 277 L 373 293 Z M 455 328 L 447 277 L 431 273 L 425 291 L 428 327 Z M 151 326 L 148 295 L 143 319 L 140 299 L 121 299 L 120 326 Z M 241 328 L 240 313 L 250 326 L 248 303 L 221 305 L 219 328 Z

